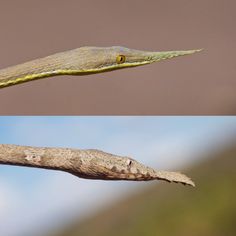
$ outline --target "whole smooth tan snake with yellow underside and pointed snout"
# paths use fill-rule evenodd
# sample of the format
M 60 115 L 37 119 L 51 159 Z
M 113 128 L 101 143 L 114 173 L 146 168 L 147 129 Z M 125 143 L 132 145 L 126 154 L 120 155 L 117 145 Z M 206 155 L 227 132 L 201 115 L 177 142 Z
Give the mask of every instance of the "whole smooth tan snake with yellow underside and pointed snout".
M 141 66 L 199 52 L 147 52 L 120 46 L 81 47 L 0 70 L 0 88 L 56 75 L 86 75 Z

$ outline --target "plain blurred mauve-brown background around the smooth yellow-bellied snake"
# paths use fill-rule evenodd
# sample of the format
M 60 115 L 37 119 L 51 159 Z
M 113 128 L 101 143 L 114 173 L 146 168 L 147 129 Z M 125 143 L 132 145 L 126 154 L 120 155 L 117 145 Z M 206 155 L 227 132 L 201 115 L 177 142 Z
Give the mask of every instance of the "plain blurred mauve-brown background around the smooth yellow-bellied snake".
M 0 90 L 2 115 L 236 114 L 234 0 L 1 0 L 0 68 L 88 46 L 191 56 Z

